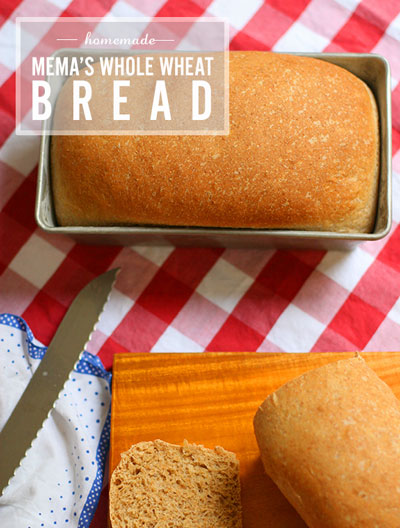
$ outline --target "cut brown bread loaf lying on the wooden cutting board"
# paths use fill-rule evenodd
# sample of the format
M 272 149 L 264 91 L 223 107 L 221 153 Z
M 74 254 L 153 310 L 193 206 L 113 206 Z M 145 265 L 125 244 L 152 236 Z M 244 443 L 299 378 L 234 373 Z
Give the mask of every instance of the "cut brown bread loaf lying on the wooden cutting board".
M 254 429 L 265 471 L 310 528 L 400 526 L 400 402 L 362 358 L 290 381 Z

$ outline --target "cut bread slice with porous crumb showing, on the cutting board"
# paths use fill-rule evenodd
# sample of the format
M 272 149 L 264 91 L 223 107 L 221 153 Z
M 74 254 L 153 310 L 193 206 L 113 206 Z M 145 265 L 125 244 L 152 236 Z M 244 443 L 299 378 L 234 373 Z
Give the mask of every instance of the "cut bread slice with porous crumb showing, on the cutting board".
M 141 442 L 110 484 L 112 528 L 241 528 L 239 462 L 222 447 Z

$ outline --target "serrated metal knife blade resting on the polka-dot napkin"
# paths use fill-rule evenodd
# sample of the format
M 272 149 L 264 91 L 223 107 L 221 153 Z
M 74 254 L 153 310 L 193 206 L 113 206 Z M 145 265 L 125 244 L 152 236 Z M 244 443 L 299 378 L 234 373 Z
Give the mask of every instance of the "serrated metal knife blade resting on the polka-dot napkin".
M 103 273 L 79 292 L 47 352 L 0 433 L 0 495 L 30 448 L 90 340 L 118 269 Z

